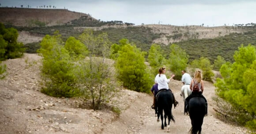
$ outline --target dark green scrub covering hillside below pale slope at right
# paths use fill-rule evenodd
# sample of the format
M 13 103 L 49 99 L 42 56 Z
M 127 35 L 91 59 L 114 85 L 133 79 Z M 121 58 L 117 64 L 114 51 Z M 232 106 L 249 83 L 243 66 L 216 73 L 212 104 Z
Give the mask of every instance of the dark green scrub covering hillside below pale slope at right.
M 231 33 L 224 37 L 217 37 L 213 39 L 192 39 L 187 41 L 176 42 L 185 49 L 189 55 L 189 61 L 199 59 L 200 57 L 207 57 L 211 63 L 217 59 L 217 56 L 222 56 L 226 61 L 234 62 L 233 55 L 235 50 L 241 44 L 256 45 L 256 30 L 245 33 Z M 168 46 L 163 46 L 165 53 L 169 53 Z

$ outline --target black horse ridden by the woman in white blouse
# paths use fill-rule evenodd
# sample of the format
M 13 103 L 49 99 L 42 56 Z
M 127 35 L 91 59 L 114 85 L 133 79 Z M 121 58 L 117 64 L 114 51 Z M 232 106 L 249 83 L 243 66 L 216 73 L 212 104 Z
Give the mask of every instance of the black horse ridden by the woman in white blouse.
M 161 115 L 162 120 L 162 126 L 161 128 L 164 129 L 164 126 L 167 126 L 166 124 L 166 118 L 168 117 L 168 128 L 167 132 L 169 132 L 170 129 L 170 120 L 172 119 L 173 122 L 175 122 L 173 116 L 172 116 L 172 104 L 173 104 L 173 98 L 172 93 L 169 90 L 159 90 L 157 96 L 156 96 L 156 106 L 158 108 L 157 112 L 157 121 L 159 122 L 159 116 Z M 164 125 L 163 125 L 163 111 L 164 111 Z

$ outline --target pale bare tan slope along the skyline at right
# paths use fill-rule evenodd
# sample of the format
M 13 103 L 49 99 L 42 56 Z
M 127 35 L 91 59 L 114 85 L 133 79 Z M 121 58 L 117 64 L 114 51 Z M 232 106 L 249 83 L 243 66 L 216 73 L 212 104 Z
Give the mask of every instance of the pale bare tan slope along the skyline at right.
M 161 33 L 161 37 L 153 42 L 158 44 L 166 44 L 179 41 L 186 41 L 191 39 L 208 39 L 222 37 L 231 33 L 244 33 L 251 31 L 252 27 L 238 27 L 238 26 L 174 26 L 174 25 L 144 25 L 152 28 L 154 33 Z

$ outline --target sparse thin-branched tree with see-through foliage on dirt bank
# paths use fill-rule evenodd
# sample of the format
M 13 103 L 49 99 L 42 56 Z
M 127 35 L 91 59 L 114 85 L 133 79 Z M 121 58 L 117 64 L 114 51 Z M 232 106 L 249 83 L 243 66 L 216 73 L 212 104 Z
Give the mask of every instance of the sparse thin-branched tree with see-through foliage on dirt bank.
M 79 36 L 80 41 L 89 50 L 89 58 L 79 60 L 76 67 L 77 83 L 84 91 L 84 101 L 91 100 L 92 109 L 101 109 L 103 104 L 116 96 L 117 89 L 113 61 L 109 60 L 110 45 L 107 34 L 94 36 L 92 30 L 86 30 Z M 102 57 L 95 57 L 101 54 Z

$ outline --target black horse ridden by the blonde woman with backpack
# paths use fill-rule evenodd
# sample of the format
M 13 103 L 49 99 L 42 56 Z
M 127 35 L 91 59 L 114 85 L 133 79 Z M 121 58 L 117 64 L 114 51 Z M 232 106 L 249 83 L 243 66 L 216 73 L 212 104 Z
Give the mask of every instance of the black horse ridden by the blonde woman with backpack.
M 207 107 L 204 98 L 194 96 L 189 100 L 189 117 L 191 119 L 192 127 L 191 134 L 201 134 L 202 124 Z

